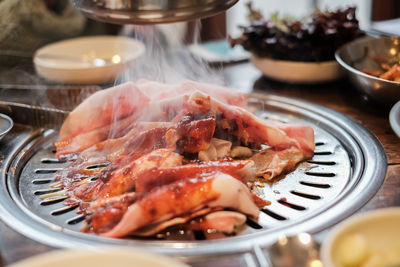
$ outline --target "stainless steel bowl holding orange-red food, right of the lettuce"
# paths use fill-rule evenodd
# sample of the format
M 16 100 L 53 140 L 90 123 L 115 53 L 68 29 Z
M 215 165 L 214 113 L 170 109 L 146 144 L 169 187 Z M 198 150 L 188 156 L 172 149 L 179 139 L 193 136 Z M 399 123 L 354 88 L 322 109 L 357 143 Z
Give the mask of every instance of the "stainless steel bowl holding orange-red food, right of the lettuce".
M 400 100 L 400 82 L 374 77 L 361 70 L 378 70 L 380 67 L 374 60 L 375 57 L 393 57 L 399 52 L 398 37 L 364 37 L 340 47 L 335 57 L 358 90 L 377 102 L 393 105 Z

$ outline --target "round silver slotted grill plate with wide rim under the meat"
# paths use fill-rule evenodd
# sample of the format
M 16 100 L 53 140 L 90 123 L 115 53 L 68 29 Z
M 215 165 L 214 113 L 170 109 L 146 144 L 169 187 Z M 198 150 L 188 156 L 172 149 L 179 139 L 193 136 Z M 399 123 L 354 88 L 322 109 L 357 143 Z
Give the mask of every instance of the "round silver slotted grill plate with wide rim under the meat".
M 57 136 L 52 130 L 21 133 L 7 147 L 0 172 L 0 216 L 16 231 L 56 247 L 123 245 L 199 256 L 246 252 L 266 246 L 283 234 L 319 232 L 350 216 L 378 191 L 386 173 L 386 156 L 378 140 L 363 126 L 336 111 L 301 100 L 252 94 L 250 102 L 258 116 L 311 125 L 316 134 L 316 153 L 283 180 L 258 187 L 272 203 L 260 212 L 258 222 L 248 221 L 237 236 L 158 241 L 80 233 L 81 218 L 62 205 L 62 197 L 48 205 L 40 198 L 50 193 L 46 184 L 63 165 L 52 156 L 51 142 Z

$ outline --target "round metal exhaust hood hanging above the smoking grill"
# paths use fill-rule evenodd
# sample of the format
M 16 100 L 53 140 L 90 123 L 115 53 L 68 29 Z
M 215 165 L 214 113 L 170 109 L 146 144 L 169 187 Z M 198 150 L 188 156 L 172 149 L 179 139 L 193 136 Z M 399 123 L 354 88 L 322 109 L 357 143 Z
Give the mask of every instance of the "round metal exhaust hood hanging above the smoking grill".
M 194 20 L 225 11 L 238 0 L 72 0 L 86 16 L 117 24 Z

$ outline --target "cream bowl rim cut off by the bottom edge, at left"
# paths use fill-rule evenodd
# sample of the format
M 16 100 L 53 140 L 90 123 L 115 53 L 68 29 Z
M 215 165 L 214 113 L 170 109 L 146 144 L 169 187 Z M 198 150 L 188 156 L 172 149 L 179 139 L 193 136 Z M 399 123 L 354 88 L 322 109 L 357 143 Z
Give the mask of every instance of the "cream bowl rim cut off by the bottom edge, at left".
M 173 258 L 127 248 L 57 250 L 40 254 L 9 267 L 188 267 Z

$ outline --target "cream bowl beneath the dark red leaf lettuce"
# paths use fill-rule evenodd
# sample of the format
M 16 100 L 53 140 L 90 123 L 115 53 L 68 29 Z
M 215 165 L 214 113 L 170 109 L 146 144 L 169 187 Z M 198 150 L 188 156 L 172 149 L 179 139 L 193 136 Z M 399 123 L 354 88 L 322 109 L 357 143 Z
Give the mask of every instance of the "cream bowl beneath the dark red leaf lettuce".
M 293 83 L 323 83 L 341 78 L 344 74 L 335 61 L 297 62 L 251 56 L 251 62 L 266 77 Z

